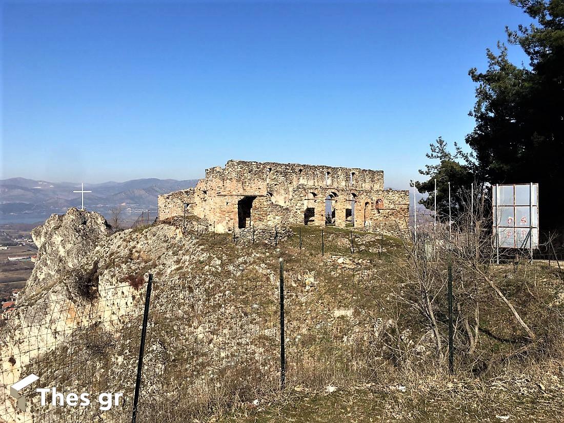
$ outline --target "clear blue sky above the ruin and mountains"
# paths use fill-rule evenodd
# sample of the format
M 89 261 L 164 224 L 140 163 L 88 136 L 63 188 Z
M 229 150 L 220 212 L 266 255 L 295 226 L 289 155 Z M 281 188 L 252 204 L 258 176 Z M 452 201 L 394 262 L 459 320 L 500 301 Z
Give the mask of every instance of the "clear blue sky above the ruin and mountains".
M 2 178 L 200 178 L 231 158 L 406 188 L 473 128 L 509 1 L 5 2 Z M 514 63 L 527 62 L 510 49 Z

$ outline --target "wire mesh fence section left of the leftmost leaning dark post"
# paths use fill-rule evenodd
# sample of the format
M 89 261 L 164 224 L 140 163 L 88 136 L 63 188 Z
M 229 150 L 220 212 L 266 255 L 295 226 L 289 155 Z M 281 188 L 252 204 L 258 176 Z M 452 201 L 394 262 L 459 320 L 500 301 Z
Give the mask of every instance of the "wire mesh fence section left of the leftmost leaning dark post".
M 135 383 L 140 292 L 127 284 L 99 294 L 99 301 L 47 297 L 2 312 L 0 419 L 79 422 L 130 414 L 130 402 L 114 393 L 125 395 Z M 10 392 L 30 374 L 38 381 Z

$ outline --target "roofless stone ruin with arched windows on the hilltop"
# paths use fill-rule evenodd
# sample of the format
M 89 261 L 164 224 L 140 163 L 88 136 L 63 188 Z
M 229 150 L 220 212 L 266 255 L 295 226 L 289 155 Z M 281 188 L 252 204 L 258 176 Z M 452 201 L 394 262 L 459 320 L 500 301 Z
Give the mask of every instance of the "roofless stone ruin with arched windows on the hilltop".
M 158 219 L 195 215 L 215 232 L 297 225 L 398 235 L 409 192 L 384 190 L 384 171 L 230 160 L 195 188 L 158 197 Z

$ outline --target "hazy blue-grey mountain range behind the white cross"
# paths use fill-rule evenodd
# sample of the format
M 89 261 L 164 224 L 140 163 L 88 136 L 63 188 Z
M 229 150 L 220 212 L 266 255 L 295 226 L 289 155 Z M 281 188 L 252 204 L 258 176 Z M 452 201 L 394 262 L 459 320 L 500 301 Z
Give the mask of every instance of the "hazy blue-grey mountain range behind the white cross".
M 85 183 L 84 204 L 89 210 L 107 212 L 117 205 L 136 213 L 156 210 L 162 193 L 196 186 L 197 179 L 133 179 L 126 182 Z M 64 213 L 69 207 L 81 206 L 81 189 L 77 182 L 48 182 L 25 178 L 0 180 L 0 215 Z

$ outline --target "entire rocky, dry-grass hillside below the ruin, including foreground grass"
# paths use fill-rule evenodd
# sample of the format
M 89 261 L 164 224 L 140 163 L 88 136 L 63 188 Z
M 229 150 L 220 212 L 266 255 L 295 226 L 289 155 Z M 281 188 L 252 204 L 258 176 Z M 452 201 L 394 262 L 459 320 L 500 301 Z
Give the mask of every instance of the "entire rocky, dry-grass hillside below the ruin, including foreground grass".
M 492 266 L 480 258 L 474 268 L 473 254 L 460 249 L 416 259 L 406 241 L 354 228 L 325 228 L 322 255 L 320 228 L 252 244 L 202 230 L 195 219 L 187 226 L 113 233 L 100 215 L 70 209 L 34 230 L 36 267 L 0 322 L 3 384 L 35 372 L 43 385 L 122 391 L 129 400 L 120 407 L 74 418 L 127 421 L 151 273 L 138 421 L 558 418 L 564 289 L 554 263 Z M 0 417 L 72 421 L 69 409 L 30 402 L 30 411 L 15 413 L 6 397 Z

